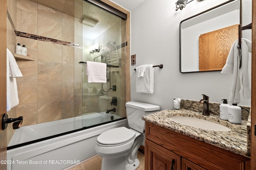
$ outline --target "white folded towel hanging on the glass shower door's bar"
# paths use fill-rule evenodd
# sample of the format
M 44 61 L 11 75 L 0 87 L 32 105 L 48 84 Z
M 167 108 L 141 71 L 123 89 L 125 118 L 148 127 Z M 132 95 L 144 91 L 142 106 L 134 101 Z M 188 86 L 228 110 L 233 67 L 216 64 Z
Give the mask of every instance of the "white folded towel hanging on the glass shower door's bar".
M 88 83 L 106 83 L 106 69 L 106 63 L 86 61 L 86 75 L 88 76 Z

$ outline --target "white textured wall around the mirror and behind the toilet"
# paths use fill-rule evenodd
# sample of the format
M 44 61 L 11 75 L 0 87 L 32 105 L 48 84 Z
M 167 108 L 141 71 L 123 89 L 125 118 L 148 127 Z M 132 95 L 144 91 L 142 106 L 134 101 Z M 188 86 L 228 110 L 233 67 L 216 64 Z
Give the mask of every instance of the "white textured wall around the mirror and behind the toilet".
M 131 11 L 131 55 L 136 54 L 136 65 L 131 66 L 131 100 L 156 104 L 160 109 L 173 107 L 174 98 L 200 100 L 202 94 L 210 102 L 229 99 L 232 74 L 218 72 L 180 73 L 180 21 L 227 0 L 194 0 L 183 10 L 175 11 L 176 0 L 145 0 Z M 251 0 L 242 0 L 243 23 L 251 23 Z M 243 31 L 251 40 L 251 30 Z M 136 93 L 136 72 L 142 64 L 164 64 L 154 68 L 154 94 Z M 241 95 L 239 105 L 250 106 L 251 101 Z

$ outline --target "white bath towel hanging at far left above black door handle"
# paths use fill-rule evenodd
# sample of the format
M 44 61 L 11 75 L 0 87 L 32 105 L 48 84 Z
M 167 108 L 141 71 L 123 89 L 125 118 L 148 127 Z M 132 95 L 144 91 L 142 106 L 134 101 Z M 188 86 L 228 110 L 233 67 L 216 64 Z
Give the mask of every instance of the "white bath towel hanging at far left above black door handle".
M 17 67 L 16 67 L 17 66 Z M 13 70 L 12 75 L 10 72 Z M 14 56 L 7 49 L 6 52 L 6 110 L 10 111 L 12 107 L 15 107 L 19 104 L 18 98 L 18 89 L 15 77 L 21 77 L 22 74 L 18 68 Z

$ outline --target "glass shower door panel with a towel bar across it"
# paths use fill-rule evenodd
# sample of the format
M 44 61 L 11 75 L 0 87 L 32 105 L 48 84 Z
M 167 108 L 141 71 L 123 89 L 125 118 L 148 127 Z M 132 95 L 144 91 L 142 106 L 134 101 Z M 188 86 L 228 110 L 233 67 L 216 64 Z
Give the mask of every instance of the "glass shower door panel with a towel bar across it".
M 82 11 L 82 127 L 90 127 L 125 117 L 125 20 L 88 1 Z M 87 61 L 107 64 L 106 83 L 88 82 Z

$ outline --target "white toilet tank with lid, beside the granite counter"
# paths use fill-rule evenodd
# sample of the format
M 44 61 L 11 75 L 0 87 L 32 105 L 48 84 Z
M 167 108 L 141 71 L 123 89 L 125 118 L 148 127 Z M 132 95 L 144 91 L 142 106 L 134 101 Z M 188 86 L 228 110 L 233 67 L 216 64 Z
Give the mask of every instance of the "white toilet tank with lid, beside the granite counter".
M 143 121 L 141 117 L 160 109 L 160 107 L 156 105 L 135 101 L 127 102 L 125 106 L 129 127 L 140 133 L 144 133 L 145 130 L 145 121 Z

